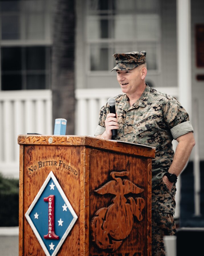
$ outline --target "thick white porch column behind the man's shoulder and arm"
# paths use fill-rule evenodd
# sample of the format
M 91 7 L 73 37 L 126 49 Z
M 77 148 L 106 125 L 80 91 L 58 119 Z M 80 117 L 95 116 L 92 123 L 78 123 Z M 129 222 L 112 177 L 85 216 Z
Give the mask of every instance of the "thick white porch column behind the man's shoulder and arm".
M 191 119 L 191 1 L 177 0 L 177 66 L 179 102 Z M 180 215 L 180 177 L 176 183 L 176 213 Z

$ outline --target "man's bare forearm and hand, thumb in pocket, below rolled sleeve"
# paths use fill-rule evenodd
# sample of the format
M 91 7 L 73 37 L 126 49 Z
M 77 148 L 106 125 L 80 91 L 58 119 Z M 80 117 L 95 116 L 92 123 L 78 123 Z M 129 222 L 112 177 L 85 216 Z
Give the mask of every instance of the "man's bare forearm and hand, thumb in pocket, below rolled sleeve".
M 178 145 L 168 172 L 176 174 L 178 177 L 189 159 L 193 146 L 195 146 L 195 139 L 193 133 L 189 132 L 178 137 L 176 140 L 178 141 Z M 163 182 L 170 190 L 172 189 L 173 183 L 168 180 L 167 176 L 163 176 Z

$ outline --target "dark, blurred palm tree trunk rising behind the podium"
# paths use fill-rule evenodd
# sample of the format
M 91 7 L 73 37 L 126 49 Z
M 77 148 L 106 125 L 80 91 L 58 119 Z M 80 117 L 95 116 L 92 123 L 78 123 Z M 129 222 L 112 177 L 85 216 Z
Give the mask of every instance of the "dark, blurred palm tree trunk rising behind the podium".
M 67 119 L 66 134 L 74 135 L 76 10 L 74 0 L 54 1 L 52 48 L 52 117 Z M 53 130 L 54 131 L 54 130 Z

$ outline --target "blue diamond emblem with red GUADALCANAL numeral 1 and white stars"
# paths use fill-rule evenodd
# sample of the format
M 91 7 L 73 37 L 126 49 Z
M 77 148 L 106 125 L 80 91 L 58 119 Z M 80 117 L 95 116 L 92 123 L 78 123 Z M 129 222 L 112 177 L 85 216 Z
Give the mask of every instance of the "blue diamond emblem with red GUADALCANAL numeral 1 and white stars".
M 47 256 L 57 254 L 78 218 L 53 172 L 44 181 L 25 217 Z

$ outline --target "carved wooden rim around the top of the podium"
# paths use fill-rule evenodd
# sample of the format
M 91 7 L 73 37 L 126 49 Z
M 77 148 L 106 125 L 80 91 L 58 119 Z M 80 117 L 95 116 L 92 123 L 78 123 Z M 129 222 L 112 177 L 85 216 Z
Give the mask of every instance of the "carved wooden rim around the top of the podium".
M 133 154 L 148 158 L 155 157 L 156 148 L 128 143 L 123 141 L 104 140 L 90 136 L 77 135 L 19 135 L 20 145 L 55 145 L 55 146 L 85 146 L 103 150 L 111 150 L 124 154 Z

